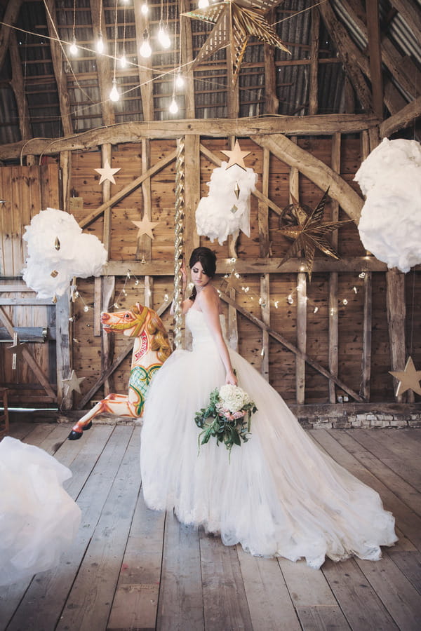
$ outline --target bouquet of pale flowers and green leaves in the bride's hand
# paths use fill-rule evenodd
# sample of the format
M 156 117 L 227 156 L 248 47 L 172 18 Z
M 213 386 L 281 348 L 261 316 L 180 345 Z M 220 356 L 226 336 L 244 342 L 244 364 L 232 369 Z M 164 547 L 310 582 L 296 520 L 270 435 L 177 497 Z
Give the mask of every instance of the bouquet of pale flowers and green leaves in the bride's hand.
M 215 388 L 210 393 L 208 407 L 202 407 L 194 416 L 194 422 L 202 430 L 199 448 L 214 436 L 216 444 L 223 442 L 231 456 L 233 445 L 241 446 L 241 440 L 248 441 L 251 415 L 255 412 L 255 402 L 250 401 L 248 394 L 239 386 Z

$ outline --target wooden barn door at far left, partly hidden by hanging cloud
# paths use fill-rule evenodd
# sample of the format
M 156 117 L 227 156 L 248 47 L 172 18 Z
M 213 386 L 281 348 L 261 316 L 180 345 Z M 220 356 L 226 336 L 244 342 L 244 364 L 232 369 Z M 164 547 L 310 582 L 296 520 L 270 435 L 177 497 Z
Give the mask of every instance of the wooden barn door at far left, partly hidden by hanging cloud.
M 0 168 L 0 198 L 0 385 L 12 406 L 55 406 L 55 306 L 22 281 L 22 235 L 41 210 L 60 208 L 58 165 Z

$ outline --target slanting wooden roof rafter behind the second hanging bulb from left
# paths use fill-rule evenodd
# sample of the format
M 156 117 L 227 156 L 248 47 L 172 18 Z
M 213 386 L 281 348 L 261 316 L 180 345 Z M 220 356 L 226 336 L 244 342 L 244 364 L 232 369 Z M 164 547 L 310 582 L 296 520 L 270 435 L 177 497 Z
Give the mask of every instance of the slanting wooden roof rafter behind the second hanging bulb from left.
M 89 5 L 91 6 L 92 29 L 95 43 L 97 39 L 99 39 L 100 35 L 102 35 L 104 46 L 106 48 L 107 29 L 104 7 L 102 6 L 102 2 L 100 3 L 98 2 L 98 0 L 89 0 Z M 104 123 L 104 125 L 114 125 L 114 123 L 116 122 L 114 116 L 114 107 L 112 105 L 112 102 L 109 100 L 109 93 L 111 92 L 112 88 L 112 73 L 109 67 L 108 58 L 105 55 L 96 53 L 96 66 L 98 74 L 98 86 L 100 88 L 101 96 L 102 122 Z M 105 143 L 101 142 L 99 144 Z

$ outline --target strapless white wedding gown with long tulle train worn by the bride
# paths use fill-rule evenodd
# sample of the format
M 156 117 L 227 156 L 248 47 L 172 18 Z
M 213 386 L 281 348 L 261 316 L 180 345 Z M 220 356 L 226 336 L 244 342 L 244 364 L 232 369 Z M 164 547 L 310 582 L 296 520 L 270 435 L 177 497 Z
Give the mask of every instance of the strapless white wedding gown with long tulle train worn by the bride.
M 315 568 L 326 556 L 380 559 L 380 545 L 397 539 L 380 496 L 322 452 L 281 396 L 231 349 L 239 386 L 258 407 L 251 436 L 234 445 L 230 461 L 213 438 L 198 449 L 194 414 L 225 383 L 225 369 L 203 313 L 190 308 L 186 324 L 193 350 L 166 360 L 145 404 L 140 466 L 147 506 L 174 509 L 180 522 L 203 525 L 252 555 L 305 557 Z

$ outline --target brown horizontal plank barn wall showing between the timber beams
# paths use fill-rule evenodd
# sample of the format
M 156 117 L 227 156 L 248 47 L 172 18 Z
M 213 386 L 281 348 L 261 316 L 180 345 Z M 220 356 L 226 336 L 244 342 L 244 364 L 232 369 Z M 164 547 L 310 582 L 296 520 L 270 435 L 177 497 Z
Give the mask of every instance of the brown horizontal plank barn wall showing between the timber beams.
M 226 140 L 201 138 L 201 144 L 220 159 L 225 159 L 220 154 L 221 149 L 227 149 Z M 331 165 L 332 142 L 330 138 L 310 137 L 298 139 L 300 147 L 309 151 L 326 165 Z M 176 148 L 175 140 L 151 140 L 149 147 L 148 165 L 153 166 L 165 156 L 170 155 Z M 246 157 L 246 165 L 258 172 L 258 189 L 262 188 L 263 150 L 252 140 L 242 139 L 241 149 L 250 151 Z M 67 210 L 72 212 L 76 220 L 81 223 L 86 216 L 95 211 L 104 201 L 102 185 L 99 184 L 100 175 L 95 169 L 102 167 L 101 151 L 73 151 L 70 158 L 69 199 Z M 56 161 L 51 162 L 48 169 L 57 169 Z M 361 143 L 357 137 L 342 137 L 340 147 L 340 175 L 356 191 L 359 187 L 353 181 L 354 174 L 361 163 Z M 142 173 L 142 143 L 117 145 L 111 148 L 111 165 L 120 168 L 114 177 L 116 184 L 111 184 L 109 196 L 113 196 L 123 186 L 133 182 L 133 179 Z M 189 156 L 186 159 L 189 168 Z M 138 229 L 133 221 L 139 221 L 144 212 L 142 187 L 139 186 L 128 194 L 119 203 L 116 203 L 110 212 L 111 217 L 111 243 L 109 259 L 122 261 L 126 271 L 139 262 L 152 260 L 159 265 L 160 262 L 173 260 L 174 247 L 174 203 L 175 203 L 175 161 L 171 161 L 164 168 L 156 172 L 150 179 L 151 191 L 151 220 L 158 222 L 154 228 L 154 239 L 142 238 L 137 240 Z M 201 196 L 208 194 L 207 182 L 215 168 L 215 164 L 205 155 L 200 157 L 201 170 Z M 4 276 L 15 276 L 22 266 L 22 226 L 25 226 L 40 208 L 53 206 L 60 208 L 58 191 L 48 184 L 47 177 L 41 178 L 41 193 L 39 197 L 28 205 L 20 203 L 19 196 L 27 195 L 27 184 L 23 176 L 22 168 L 16 168 L 18 179 L 4 178 L 1 182 L 3 190 L 9 191 L 11 186 L 16 189 L 13 192 L 13 217 L 8 217 L 0 210 L 1 239 L 3 254 L 1 259 Z M 20 170 L 19 170 L 20 169 Z M 29 169 L 30 173 L 32 168 Z M 34 168 L 39 169 L 39 168 Z M 143 165 L 145 170 L 145 165 Z M 3 171 L 3 170 L 0 170 Z M 18 175 L 20 173 L 20 175 Z M 29 175 L 25 175 L 29 177 Z M 20 179 L 19 179 L 20 178 Z M 22 179 L 24 178 L 24 179 Z M 9 187 L 9 188 L 7 188 Z M 44 187 L 44 188 L 43 188 Z M 270 155 L 269 161 L 269 198 L 284 208 L 290 201 L 290 167 Z M 19 192 L 18 192 L 19 191 Z M 25 192 L 26 191 L 26 192 Z M 298 182 L 300 202 L 310 208 L 319 202 L 323 191 L 313 184 L 307 177 L 300 174 Z M 2 192 L 2 196 L 4 196 Z M 64 202 L 66 203 L 66 201 Z M 194 212 L 195 209 L 187 209 Z M 333 216 L 333 204 L 327 203 L 323 221 L 328 222 Z M 347 219 L 345 212 L 340 210 L 340 219 Z M 269 257 L 282 257 L 290 245 L 279 232 L 279 215 L 269 209 Z M 104 218 L 101 215 L 95 221 L 84 228 L 84 231 L 93 233 L 101 240 L 104 236 Z M 259 225 L 258 225 L 258 201 L 252 196 L 250 212 L 250 238 L 243 233 L 239 235 L 236 243 L 236 252 L 241 261 L 255 261 L 261 257 Z M 15 235 L 13 243 L 8 240 L 8 235 Z M 19 243 L 18 243 L 19 241 Z M 215 250 L 218 258 L 229 259 L 232 257 L 232 240 L 224 245 L 217 242 L 210 243 L 207 238 L 200 239 L 201 245 L 210 245 Z M 149 248 L 150 245 L 150 248 Z M 5 249 L 6 248 L 6 249 Z M 9 252 L 9 254 L 7 253 Z M 363 257 L 366 251 L 359 239 L 359 233 L 354 222 L 344 224 L 338 231 L 338 252 L 341 257 Z M 187 257 L 189 252 L 187 252 Z M 316 253 L 316 257 L 324 257 Z M 11 262 L 9 259 L 11 258 Z M 7 264 L 6 264 L 7 261 Z M 235 264 L 233 264 L 233 269 Z M 363 315 L 364 315 L 364 279 L 359 276 L 361 270 L 338 273 L 338 376 L 339 378 L 359 393 L 361 387 L 361 356 L 363 351 Z M 269 305 L 270 326 L 279 332 L 288 342 L 297 345 L 298 325 L 298 274 L 297 273 L 270 273 L 269 277 Z M 107 279 L 105 279 L 107 280 Z M 135 284 L 137 281 L 137 284 Z M 248 290 L 236 292 L 236 303 L 246 311 L 262 319 L 262 307 L 259 304 L 260 273 L 242 274 L 240 285 L 248 287 Z M 145 286 L 146 283 L 146 286 Z M 411 271 L 406 275 L 406 342 L 407 355 L 411 354 L 415 365 L 421 365 L 421 348 L 417 340 L 420 339 L 421 321 L 421 275 Z M 215 278 L 217 287 L 224 287 L 222 275 Z M 74 393 L 74 405 L 77 407 L 81 398 L 90 391 L 101 374 L 102 336 L 95 331 L 95 314 L 98 318 L 98 305 L 93 310 L 95 301 L 95 281 L 93 278 L 78 279 L 77 282 L 80 298 L 72 302 L 71 312 L 74 321 L 71 323 L 72 362 L 73 368 L 79 377 L 84 380 L 81 383 L 81 395 Z M 98 281 L 97 281 L 98 289 Z M 123 290 L 125 294 L 123 293 Z M 150 296 L 149 296 L 150 292 Z M 131 277 L 117 276 L 115 278 L 114 291 L 109 297 L 109 308 L 114 310 L 114 303 L 119 307 L 131 306 L 135 301 L 145 303 L 145 294 L 149 296 L 150 306 L 159 308 L 166 304 L 173 292 L 172 276 L 145 276 L 137 272 L 137 278 L 131 273 Z M 389 331 L 387 323 L 387 299 L 386 299 L 386 273 L 373 272 L 372 274 L 373 314 L 372 314 L 372 349 L 371 349 L 371 377 L 370 377 L 370 401 L 393 402 L 394 391 L 391 369 Z M 7 295 L 7 294 L 6 294 Z M 89 306 L 89 311 L 84 311 L 84 306 Z M 22 321 L 33 323 L 35 308 L 30 309 L 32 315 L 21 308 L 16 325 Z M 54 310 L 53 310 L 54 311 Z M 18 311 L 16 312 L 18 313 Z M 225 305 L 225 313 L 228 316 L 228 307 Z M 17 317 L 17 316 L 16 316 Z M 43 316 L 44 317 L 44 316 Z M 23 318 L 23 320 L 22 320 Z M 26 319 L 25 319 L 26 318 Z M 29 320 L 28 320 L 29 318 Z M 53 316 L 48 315 L 50 323 Z M 164 311 L 163 322 L 166 324 L 170 335 L 173 334 L 173 320 L 169 309 Z M 42 319 L 42 318 L 41 318 Z M 45 318 L 44 318 L 45 320 Z M 42 320 L 44 322 L 44 320 Z M 329 274 L 315 272 L 312 282 L 307 282 L 307 347 L 306 353 L 310 358 L 319 362 L 325 369 L 329 367 Z M 246 359 L 258 370 L 262 369 L 265 361 L 269 362 L 269 381 L 279 391 L 287 402 L 295 403 L 297 400 L 297 386 L 295 383 L 296 367 L 298 362 L 295 354 L 288 351 L 285 346 L 269 336 L 269 344 L 264 350 L 265 340 L 260 327 L 250 322 L 241 313 L 237 313 L 238 347 Z M 97 320 L 98 325 L 98 320 Z M 127 344 L 127 339 L 113 335 L 112 354 L 114 357 Z M 0 353 L 1 351 L 0 346 Z M 36 351 L 39 353 L 39 349 Z M 4 357 L 4 355 L 3 355 Z M 93 395 L 93 400 L 102 398 L 109 391 L 124 392 L 128 384 L 130 371 L 130 354 L 121 362 L 108 382 L 101 386 Z M 43 360 L 46 371 L 51 374 L 51 367 L 47 360 Z M 5 365 L 4 361 L 2 365 Z M 13 376 L 6 368 L 0 372 L 0 382 L 9 383 Z M 28 377 L 29 379 L 29 377 Z M 53 379 L 53 378 L 52 378 Z M 33 379 L 36 381 L 36 379 Z M 34 386 L 32 386 L 33 388 Z M 343 395 L 341 388 L 336 388 L 336 395 Z M 45 399 L 45 397 L 44 397 Z M 39 401 L 43 400 L 39 393 Z M 350 399 L 351 400 L 351 399 Z M 415 400 L 419 400 L 415 395 Z M 329 402 L 328 379 L 308 364 L 305 365 L 305 402 L 326 403 Z M 85 407 L 88 407 L 88 403 Z

